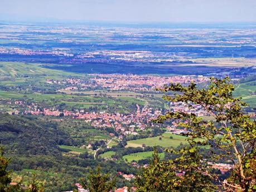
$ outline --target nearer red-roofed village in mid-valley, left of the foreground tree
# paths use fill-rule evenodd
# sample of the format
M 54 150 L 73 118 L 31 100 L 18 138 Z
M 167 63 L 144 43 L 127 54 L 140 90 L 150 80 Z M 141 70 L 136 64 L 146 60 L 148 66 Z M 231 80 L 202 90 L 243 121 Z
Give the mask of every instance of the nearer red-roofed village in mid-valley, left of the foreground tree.
M 18 112 L 17 112 L 18 113 Z M 38 110 L 33 108 L 31 110 L 25 110 L 22 114 L 31 115 L 48 115 L 48 116 L 70 116 L 74 119 L 82 119 L 89 123 L 91 126 L 99 129 L 105 129 L 106 127 L 113 127 L 115 131 L 120 132 L 120 138 L 122 135 L 138 135 L 136 129 L 145 130 L 146 126 L 151 124 L 151 120 L 161 114 L 160 110 L 152 110 L 148 107 L 140 107 L 137 105 L 137 111 L 134 114 L 110 114 L 108 112 L 73 112 L 68 110 L 54 110 L 54 109 L 42 109 Z

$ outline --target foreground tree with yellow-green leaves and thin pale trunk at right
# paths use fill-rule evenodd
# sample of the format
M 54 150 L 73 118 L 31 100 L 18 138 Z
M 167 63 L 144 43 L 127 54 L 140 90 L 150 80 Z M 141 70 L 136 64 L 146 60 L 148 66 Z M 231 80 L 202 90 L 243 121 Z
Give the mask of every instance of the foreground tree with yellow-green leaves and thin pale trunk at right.
M 168 112 L 154 120 L 157 123 L 178 120 L 179 125 L 189 131 L 186 134 L 189 146 L 184 146 L 179 150 L 169 150 L 177 156 L 168 161 L 169 171 L 172 170 L 175 173 L 183 171 L 180 179 L 175 178 L 178 180 L 176 190 L 185 191 L 184 187 L 188 186 L 187 182 L 190 182 L 189 185 L 194 185 L 191 178 L 197 182 L 202 181 L 202 178 L 209 181 L 201 183 L 208 191 L 214 191 L 213 189 L 219 191 L 256 190 L 256 124 L 243 112 L 243 107 L 247 104 L 232 96 L 234 86 L 229 78 L 210 78 L 208 88 L 199 89 L 193 82 L 187 87 L 170 83 L 158 91 L 173 94 L 163 96 L 163 99 L 168 102 L 183 102 L 184 105 L 190 107 L 201 105 L 214 117 L 212 121 L 205 121 L 196 114 L 177 111 Z M 209 151 L 212 155 L 209 155 Z M 212 164 L 220 161 L 231 162 L 233 170 L 229 178 L 220 180 L 217 174 L 212 173 L 207 161 Z M 194 188 L 197 186 L 194 185 Z M 201 186 L 198 187 L 195 191 L 203 191 Z

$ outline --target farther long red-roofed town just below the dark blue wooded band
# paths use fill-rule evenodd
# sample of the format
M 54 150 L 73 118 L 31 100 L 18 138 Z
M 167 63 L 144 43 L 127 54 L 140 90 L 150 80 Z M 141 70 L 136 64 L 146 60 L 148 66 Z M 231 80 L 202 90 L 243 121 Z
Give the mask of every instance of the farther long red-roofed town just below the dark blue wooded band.
M 204 76 L 149 76 L 132 74 L 90 74 L 89 80 L 80 78 L 69 78 L 62 81 L 46 80 L 47 83 L 57 83 L 66 85 L 65 90 L 86 90 L 93 88 L 103 88 L 107 90 L 132 90 L 132 91 L 152 91 L 154 88 L 162 87 L 168 83 L 207 82 L 208 77 Z

